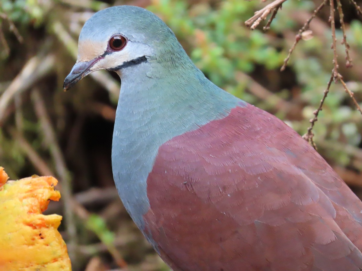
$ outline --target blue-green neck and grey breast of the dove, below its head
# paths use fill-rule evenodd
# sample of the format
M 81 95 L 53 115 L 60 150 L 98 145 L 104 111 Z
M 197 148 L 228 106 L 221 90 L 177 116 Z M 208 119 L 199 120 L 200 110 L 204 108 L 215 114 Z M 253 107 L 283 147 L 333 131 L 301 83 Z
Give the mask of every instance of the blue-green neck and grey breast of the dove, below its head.
M 143 229 L 142 216 L 149 207 L 146 180 L 159 147 L 227 116 L 242 102 L 212 84 L 192 63 L 180 67 L 171 63 L 167 69 L 151 60 L 127 67 L 120 76 L 113 175 L 127 211 Z

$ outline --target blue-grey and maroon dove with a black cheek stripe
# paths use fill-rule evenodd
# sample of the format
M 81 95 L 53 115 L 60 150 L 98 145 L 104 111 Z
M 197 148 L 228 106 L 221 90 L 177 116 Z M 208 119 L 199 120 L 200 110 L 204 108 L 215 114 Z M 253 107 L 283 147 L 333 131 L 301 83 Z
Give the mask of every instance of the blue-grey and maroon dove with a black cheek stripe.
M 121 79 L 119 197 L 169 267 L 362 270 L 359 198 L 285 122 L 209 81 L 159 17 L 89 18 L 64 89 L 101 69 Z

